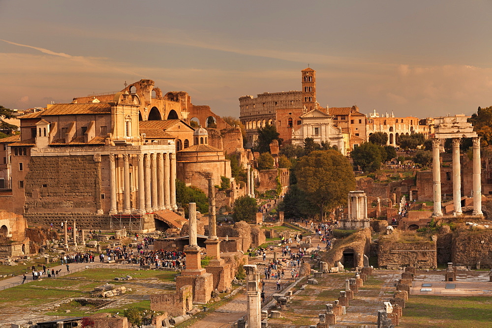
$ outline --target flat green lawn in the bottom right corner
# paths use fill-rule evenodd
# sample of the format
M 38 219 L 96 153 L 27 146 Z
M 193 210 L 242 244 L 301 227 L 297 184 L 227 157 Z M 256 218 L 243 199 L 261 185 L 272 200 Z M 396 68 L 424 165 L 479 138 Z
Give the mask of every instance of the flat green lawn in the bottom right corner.
M 492 298 L 411 296 L 400 327 L 491 327 Z

